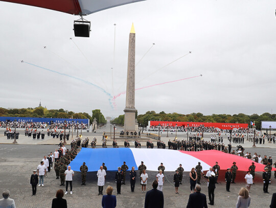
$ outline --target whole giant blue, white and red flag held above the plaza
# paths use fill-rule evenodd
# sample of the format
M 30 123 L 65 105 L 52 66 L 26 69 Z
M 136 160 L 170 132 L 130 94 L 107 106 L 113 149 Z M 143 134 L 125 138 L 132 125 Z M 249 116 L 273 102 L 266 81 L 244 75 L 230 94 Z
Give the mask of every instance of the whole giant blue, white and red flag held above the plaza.
M 252 160 L 233 154 L 223 153 L 217 150 L 204 150 L 199 152 L 178 151 L 168 149 L 139 149 L 139 148 L 82 148 L 76 158 L 71 162 L 72 170 L 79 171 L 83 162 L 88 171 L 98 171 L 102 163 L 105 163 L 108 171 L 117 171 L 123 162 L 135 170 L 141 165 L 141 161 L 147 166 L 148 171 L 157 171 L 160 163 L 166 167 L 166 171 L 175 171 L 182 164 L 184 171 L 191 171 L 198 162 L 203 171 L 209 170 L 218 162 L 221 170 L 231 168 L 235 161 L 238 170 L 247 171 Z M 264 165 L 256 164 L 255 171 L 264 171 Z M 276 170 L 273 168 L 272 170 Z

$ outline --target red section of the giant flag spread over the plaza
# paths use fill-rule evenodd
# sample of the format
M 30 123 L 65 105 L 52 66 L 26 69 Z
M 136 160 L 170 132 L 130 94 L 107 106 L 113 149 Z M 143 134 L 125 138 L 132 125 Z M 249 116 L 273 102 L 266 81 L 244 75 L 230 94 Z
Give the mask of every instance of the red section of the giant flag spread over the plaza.
M 233 166 L 233 162 L 236 162 L 236 166 L 238 166 L 239 171 L 248 171 L 249 166 L 252 165 L 252 160 L 247 159 L 245 157 L 237 156 L 234 154 L 224 153 L 218 150 L 204 150 L 198 152 L 190 152 L 190 151 L 180 151 L 185 154 L 189 154 L 193 157 L 198 158 L 199 160 L 204 161 L 204 163 L 213 167 L 218 162 L 221 170 L 227 170 L 227 168 L 231 168 Z M 264 171 L 265 165 L 255 163 L 256 169 L 255 171 Z M 272 168 L 272 171 L 276 171 L 276 168 Z

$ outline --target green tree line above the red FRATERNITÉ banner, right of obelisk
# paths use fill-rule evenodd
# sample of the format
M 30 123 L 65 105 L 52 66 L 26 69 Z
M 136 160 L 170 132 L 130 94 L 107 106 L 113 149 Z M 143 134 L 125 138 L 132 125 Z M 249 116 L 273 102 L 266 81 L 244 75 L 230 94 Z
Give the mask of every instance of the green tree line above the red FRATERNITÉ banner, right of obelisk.
M 276 114 L 270 114 L 265 112 L 261 115 L 254 113 L 246 115 L 244 113 L 239 114 L 212 114 L 203 115 L 202 113 L 180 114 L 180 113 L 165 113 L 161 111 L 156 113 L 155 111 L 147 111 L 145 114 L 137 115 L 137 122 L 146 127 L 148 121 L 178 121 L 178 122 L 209 122 L 209 123 L 242 123 L 248 124 L 250 127 L 250 121 L 255 122 L 256 128 L 261 128 L 262 121 L 276 121 Z M 124 125 L 124 115 L 119 115 L 114 119 L 112 123 Z

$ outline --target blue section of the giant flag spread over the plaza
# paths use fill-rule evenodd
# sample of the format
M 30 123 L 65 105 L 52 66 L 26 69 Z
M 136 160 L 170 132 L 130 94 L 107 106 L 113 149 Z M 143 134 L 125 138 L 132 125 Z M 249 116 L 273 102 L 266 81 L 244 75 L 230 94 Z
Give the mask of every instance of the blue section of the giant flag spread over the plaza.
M 98 171 L 105 163 L 108 171 L 117 171 L 118 167 L 126 162 L 129 170 L 137 166 L 132 151 L 129 148 L 81 148 L 79 154 L 70 163 L 73 171 L 80 171 L 83 162 L 88 167 L 88 172 Z

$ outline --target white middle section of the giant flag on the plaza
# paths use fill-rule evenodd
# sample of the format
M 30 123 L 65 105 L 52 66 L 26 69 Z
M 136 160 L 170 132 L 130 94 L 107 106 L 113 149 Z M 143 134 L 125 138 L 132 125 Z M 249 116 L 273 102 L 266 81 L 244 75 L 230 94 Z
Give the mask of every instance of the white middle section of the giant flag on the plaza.
M 198 162 L 201 163 L 200 165 L 202 166 L 203 171 L 209 170 L 211 167 L 194 156 L 184 154 L 176 150 L 130 149 L 133 153 L 136 166 L 139 167 L 141 165 L 141 161 L 143 161 L 149 171 L 158 171 L 157 168 L 160 166 L 160 163 L 163 163 L 165 166 L 165 171 L 175 171 L 179 167 L 179 164 L 182 165 L 184 171 L 191 171 L 192 168 L 197 166 Z

